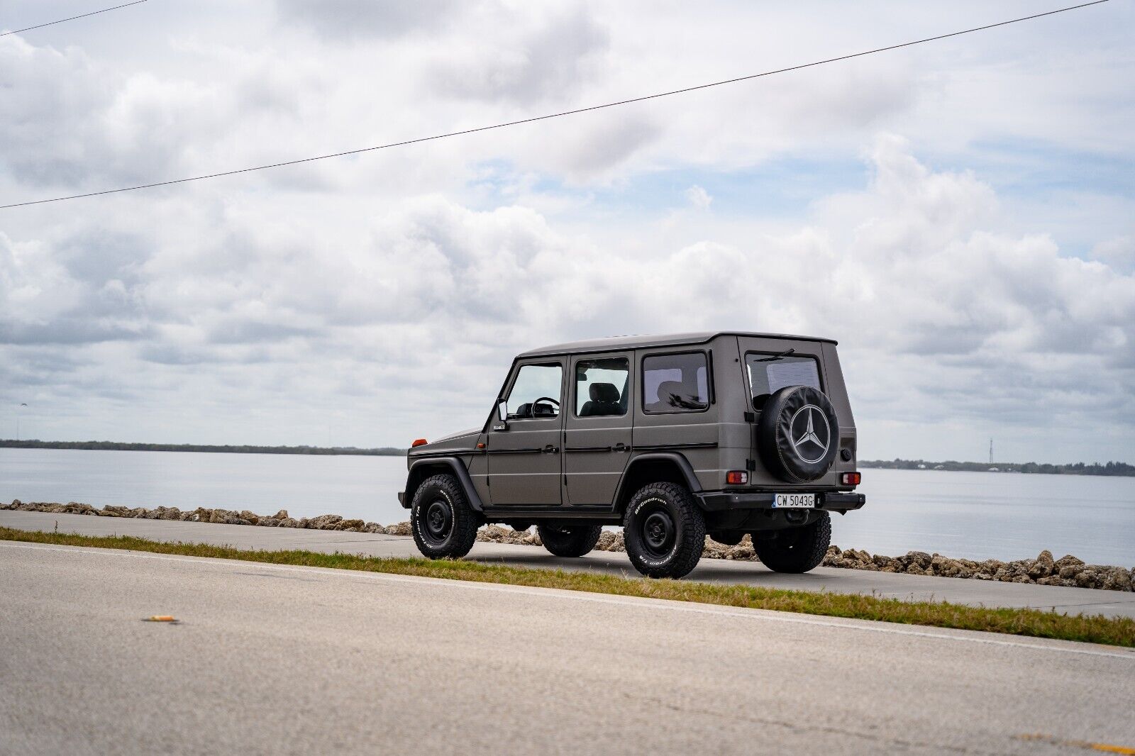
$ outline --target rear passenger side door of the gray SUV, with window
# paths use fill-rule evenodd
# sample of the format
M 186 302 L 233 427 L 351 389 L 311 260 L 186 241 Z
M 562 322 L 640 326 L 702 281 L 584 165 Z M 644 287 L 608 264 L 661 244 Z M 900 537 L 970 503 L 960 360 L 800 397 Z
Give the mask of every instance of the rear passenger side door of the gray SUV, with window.
M 631 452 L 633 352 L 578 355 L 564 409 L 568 504 L 609 506 Z

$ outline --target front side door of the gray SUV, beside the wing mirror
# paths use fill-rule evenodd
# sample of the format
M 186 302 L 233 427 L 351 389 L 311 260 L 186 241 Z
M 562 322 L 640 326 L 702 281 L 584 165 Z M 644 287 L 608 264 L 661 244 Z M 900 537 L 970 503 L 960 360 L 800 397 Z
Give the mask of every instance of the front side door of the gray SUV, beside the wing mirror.
M 563 503 L 564 362 L 560 358 L 522 362 L 513 371 L 505 392 L 507 420 L 490 422 L 486 440 L 493 506 Z

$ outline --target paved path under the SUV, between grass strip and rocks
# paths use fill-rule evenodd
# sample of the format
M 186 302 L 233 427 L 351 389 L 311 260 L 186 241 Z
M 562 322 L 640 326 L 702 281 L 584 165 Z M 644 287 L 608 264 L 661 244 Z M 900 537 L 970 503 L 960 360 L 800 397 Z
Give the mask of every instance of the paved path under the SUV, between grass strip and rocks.
M 0 511 L 0 526 L 9 528 L 53 530 L 56 523 L 61 532 L 92 536 L 119 534 L 153 540 L 185 540 L 250 549 L 305 548 L 370 556 L 420 556 L 412 538 L 398 536 Z M 466 558 L 528 568 L 590 570 L 639 577 L 625 554 L 612 552 L 592 552 L 582 558 L 560 558 L 533 546 L 479 543 L 473 546 Z M 1135 593 L 1117 590 L 959 580 L 835 568 L 817 568 L 807 574 L 777 574 L 754 562 L 726 560 L 701 560 L 689 579 L 801 590 L 874 594 L 902 599 L 948 600 L 972 606 L 1032 606 L 1069 614 L 1135 618 Z

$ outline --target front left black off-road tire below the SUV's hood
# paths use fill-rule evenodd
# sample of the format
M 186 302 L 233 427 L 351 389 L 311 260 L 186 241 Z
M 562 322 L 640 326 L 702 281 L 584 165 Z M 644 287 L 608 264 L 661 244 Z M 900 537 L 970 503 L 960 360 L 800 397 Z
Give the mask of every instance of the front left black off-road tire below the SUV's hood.
M 422 556 L 460 558 L 477 540 L 477 512 L 453 476 L 432 476 L 414 492 L 410 530 Z

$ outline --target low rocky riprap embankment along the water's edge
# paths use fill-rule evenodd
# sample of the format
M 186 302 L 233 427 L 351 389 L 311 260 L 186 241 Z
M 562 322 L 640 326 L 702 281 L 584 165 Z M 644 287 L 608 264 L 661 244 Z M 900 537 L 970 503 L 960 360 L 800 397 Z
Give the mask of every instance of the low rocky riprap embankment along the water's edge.
M 254 514 L 247 510 L 210 510 L 197 507 L 182 512 L 177 507 L 159 506 L 155 510 L 126 506 L 104 506 L 101 510 L 89 504 L 23 503 L 19 499 L 0 510 L 22 512 L 49 512 L 56 514 L 90 514 L 107 518 L 142 518 L 146 520 L 180 520 L 188 522 L 219 522 L 222 524 L 246 524 L 269 528 L 306 528 L 311 530 L 343 530 L 347 532 L 385 534 L 409 536 L 410 523 L 382 527 L 377 522 L 346 520 L 338 514 L 321 514 L 317 518 L 291 518 L 286 510 L 271 516 Z M 531 530 L 513 530 L 501 526 L 487 526 L 477 532 L 477 540 L 497 544 L 540 546 L 540 537 Z M 623 534 L 605 530 L 595 546 L 600 552 L 624 552 Z M 726 546 L 706 537 L 703 557 L 757 562 L 753 540 L 746 536 L 737 546 Z M 938 576 L 942 578 L 969 578 L 973 580 L 999 580 L 1002 582 L 1032 582 L 1042 586 L 1069 586 L 1076 588 L 1102 588 L 1104 590 L 1135 590 L 1135 570 L 1105 564 L 1085 564 L 1075 556 L 1052 558 L 1050 552 L 1041 552 L 1034 560 L 1001 562 L 985 560 L 955 560 L 941 554 L 908 552 L 903 556 L 868 554 L 855 548 L 840 549 L 832 546 L 824 557 L 824 566 L 875 572 L 905 572 L 907 574 Z

